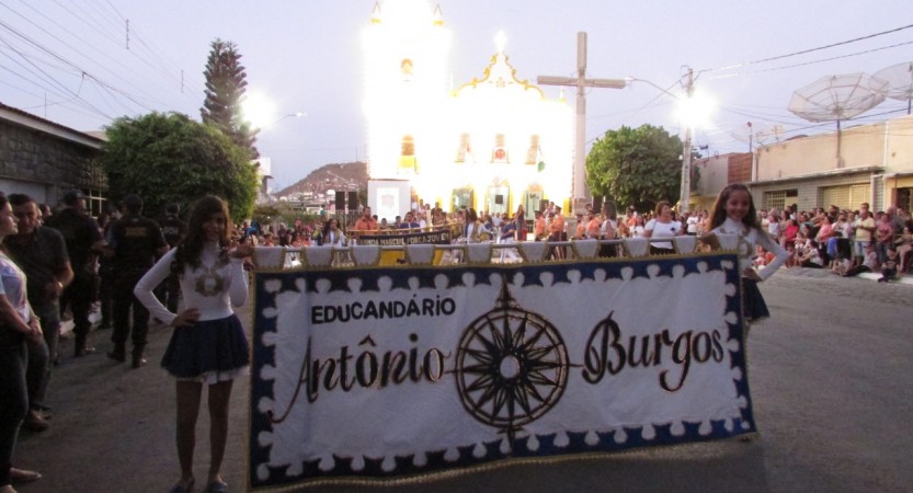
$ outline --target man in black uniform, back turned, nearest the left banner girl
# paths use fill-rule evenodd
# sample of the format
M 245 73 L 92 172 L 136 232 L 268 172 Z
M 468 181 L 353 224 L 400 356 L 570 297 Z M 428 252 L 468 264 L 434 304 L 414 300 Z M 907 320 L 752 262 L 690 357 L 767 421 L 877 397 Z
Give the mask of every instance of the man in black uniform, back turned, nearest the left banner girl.
M 142 200 L 134 194 L 124 197 L 124 217 L 111 225 L 109 255 L 114 268 L 114 349 L 107 357 L 126 362 L 127 336 L 130 335 L 133 308 L 133 367 L 146 364 L 142 349 L 149 332 L 149 310 L 133 294 L 136 284 L 155 265 L 156 259 L 168 252 L 168 243 L 158 222 L 144 217 Z

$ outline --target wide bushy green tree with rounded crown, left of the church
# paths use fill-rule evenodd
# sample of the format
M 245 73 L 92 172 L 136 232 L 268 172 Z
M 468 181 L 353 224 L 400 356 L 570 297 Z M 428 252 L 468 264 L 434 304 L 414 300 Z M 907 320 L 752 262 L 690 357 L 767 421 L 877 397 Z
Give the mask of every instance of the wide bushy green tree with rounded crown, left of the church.
M 168 204 L 189 210 L 206 194 L 228 202 L 233 219 L 250 217 L 256 170 L 247 150 L 214 126 L 178 113 L 121 117 L 107 127 L 104 169 L 111 198 L 135 193 L 145 214 L 159 217 Z

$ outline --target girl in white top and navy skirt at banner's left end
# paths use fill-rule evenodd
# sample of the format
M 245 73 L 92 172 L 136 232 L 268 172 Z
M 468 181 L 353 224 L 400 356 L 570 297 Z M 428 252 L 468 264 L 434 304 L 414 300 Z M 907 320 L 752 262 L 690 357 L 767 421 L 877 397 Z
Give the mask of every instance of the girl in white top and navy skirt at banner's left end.
M 220 468 L 228 437 L 228 404 L 232 380 L 246 374 L 248 340 L 231 306 L 248 297 L 243 259 L 253 246 L 229 250 L 231 219 L 221 198 L 207 196 L 194 206 L 187 237 L 166 253 L 137 283 L 134 294 L 152 317 L 174 328 L 162 357 L 162 368 L 176 379 L 178 458 L 181 479 L 172 492 L 193 488 L 194 428 L 203 386 L 208 387 L 210 457 L 207 489 L 227 492 Z M 152 294 L 170 273 L 180 277 L 184 309 L 170 312 Z

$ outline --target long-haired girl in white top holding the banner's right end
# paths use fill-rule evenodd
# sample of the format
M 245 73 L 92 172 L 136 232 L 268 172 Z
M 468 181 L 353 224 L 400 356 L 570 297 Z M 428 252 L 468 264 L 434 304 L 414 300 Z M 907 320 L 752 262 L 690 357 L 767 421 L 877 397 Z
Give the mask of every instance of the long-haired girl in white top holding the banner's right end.
M 710 214 L 710 228 L 714 234 L 739 236 L 739 268 L 742 272 L 742 300 L 746 322 L 769 317 L 771 311 L 757 289 L 757 283 L 771 277 L 786 262 L 789 253 L 761 229 L 754 200 L 745 185 L 734 183 L 720 192 Z M 761 271 L 753 266 L 757 246 L 774 254 L 774 260 Z

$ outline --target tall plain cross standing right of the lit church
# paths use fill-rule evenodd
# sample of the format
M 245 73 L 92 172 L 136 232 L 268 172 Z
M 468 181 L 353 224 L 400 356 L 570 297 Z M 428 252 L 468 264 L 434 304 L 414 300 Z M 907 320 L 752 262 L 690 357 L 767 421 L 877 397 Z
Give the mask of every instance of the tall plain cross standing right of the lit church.
M 539 85 L 577 87 L 577 135 L 574 139 L 573 188 L 571 199 L 586 197 L 586 88 L 624 89 L 625 79 L 587 79 L 586 78 L 586 33 L 577 33 L 577 77 L 539 76 Z M 573 214 L 573 202 L 571 214 Z

